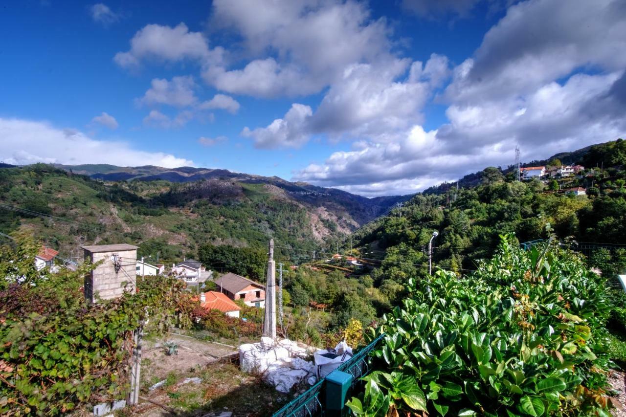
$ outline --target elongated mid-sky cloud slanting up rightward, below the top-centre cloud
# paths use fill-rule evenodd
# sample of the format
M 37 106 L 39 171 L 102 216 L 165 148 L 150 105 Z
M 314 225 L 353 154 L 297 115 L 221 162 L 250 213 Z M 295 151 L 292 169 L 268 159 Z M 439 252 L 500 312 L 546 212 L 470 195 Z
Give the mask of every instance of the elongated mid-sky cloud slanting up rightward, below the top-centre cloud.
M 259 148 L 300 147 L 317 134 L 390 142 L 423 119 L 424 103 L 447 73 L 447 58 L 436 54 L 426 66 L 397 58 L 352 64 L 315 113 L 310 106 L 294 104 L 283 118 L 265 128 L 245 128 L 242 135 Z

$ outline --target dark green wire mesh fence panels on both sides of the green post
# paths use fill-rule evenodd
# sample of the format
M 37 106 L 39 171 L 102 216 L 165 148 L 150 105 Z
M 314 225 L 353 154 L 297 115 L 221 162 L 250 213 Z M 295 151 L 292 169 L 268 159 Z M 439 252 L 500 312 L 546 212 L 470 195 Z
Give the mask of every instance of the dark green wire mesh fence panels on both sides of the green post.
M 354 387 L 359 383 L 359 378 L 366 376 L 370 369 L 367 364 L 369 354 L 376 348 L 376 345 L 381 341 L 384 334 L 376 337 L 365 348 L 358 351 L 352 358 L 342 363 L 337 370 L 349 373 L 352 375 L 352 386 Z M 272 414 L 272 417 L 312 417 L 324 415 L 324 395 L 326 393 L 326 378 L 323 378 L 307 389 L 304 393 L 300 394 L 296 398 L 292 399 L 288 404 L 279 411 Z

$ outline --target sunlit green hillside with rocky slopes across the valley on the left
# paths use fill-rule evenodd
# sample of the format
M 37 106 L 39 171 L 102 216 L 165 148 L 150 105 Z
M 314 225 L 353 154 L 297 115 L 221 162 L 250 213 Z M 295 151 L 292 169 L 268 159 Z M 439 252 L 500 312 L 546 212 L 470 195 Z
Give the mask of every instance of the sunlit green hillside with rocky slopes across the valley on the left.
M 269 183 L 100 182 L 43 164 L 1 169 L 0 203 L 0 232 L 29 229 L 64 257 L 113 242 L 138 244 L 153 260 L 195 257 L 207 243 L 265 250 L 272 237 L 314 248 L 359 226 L 346 205 L 307 202 Z

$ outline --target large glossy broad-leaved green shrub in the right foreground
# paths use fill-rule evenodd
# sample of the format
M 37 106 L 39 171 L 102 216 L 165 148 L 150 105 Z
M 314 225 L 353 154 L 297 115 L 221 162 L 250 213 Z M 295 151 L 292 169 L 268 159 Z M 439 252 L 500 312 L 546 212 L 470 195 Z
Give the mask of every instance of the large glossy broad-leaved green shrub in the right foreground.
M 409 279 L 354 414 L 608 416 L 604 280 L 572 252 L 501 239 L 469 277 Z

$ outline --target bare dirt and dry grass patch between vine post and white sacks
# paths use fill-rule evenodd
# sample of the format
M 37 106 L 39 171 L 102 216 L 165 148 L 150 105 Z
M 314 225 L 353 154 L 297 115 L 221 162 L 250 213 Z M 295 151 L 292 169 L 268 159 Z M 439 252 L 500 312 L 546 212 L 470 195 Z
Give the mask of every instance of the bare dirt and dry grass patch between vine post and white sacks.
M 166 341 L 178 344 L 178 355 L 165 354 Z M 259 378 L 241 373 L 239 365 L 229 358 L 235 353 L 236 349 L 229 346 L 175 334 L 146 342 L 141 361 L 141 401 L 132 411 L 126 409 L 126 414 L 200 417 L 232 411 L 233 416 L 271 415 L 289 398 Z M 187 378 L 197 379 L 184 383 Z M 163 380 L 160 388 L 149 391 L 151 385 Z

